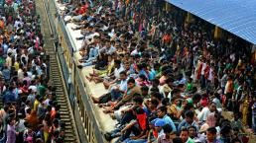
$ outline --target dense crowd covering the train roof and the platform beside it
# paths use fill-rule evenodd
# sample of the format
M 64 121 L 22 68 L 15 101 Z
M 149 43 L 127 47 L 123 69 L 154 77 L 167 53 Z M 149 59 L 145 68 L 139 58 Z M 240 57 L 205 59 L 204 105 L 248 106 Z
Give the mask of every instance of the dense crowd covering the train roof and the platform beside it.
M 91 97 L 118 121 L 116 143 L 245 143 L 256 132 L 255 57 L 236 36 L 214 38 L 164 0 L 67 4 L 64 22 L 80 30 L 78 68 L 107 93 Z M 252 51 L 255 52 L 255 51 Z M 232 112 L 231 120 L 222 112 Z

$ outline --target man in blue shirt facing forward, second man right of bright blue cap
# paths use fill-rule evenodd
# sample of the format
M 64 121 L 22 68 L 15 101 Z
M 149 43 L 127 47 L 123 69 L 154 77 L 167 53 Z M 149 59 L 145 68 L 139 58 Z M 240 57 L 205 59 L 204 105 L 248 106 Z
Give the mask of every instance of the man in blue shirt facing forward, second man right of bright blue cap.
M 188 110 L 185 113 L 185 119 L 179 124 L 178 126 L 178 132 L 182 131 L 182 127 L 189 127 L 189 126 L 194 126 L 196 127 L 196 130 L 198 130 L 198 125 L 196 121 L 193 119 L 194 114 L 192 110 Z

